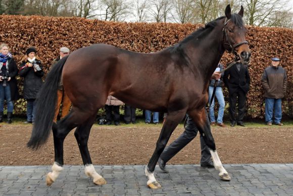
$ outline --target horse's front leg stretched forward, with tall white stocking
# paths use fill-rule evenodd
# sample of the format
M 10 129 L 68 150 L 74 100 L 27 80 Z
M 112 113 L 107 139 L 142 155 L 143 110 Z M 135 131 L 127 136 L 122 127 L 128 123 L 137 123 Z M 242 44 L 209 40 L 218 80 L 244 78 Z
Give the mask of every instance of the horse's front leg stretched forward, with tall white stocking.
M 202 110 L 194 110 L 191 112 L 188 112 L 190 117 L 193 119 L 194 123 L 196 123 L 199 132 L 203 136 L 205 143 L 210 148 L 210 152 L 213 158 L 215 169 L 218 170 L 219 176 L 223 180 L 231 180 L 231 177 L 229 176 L 228 172 L 223 167 L 221 160 L 219 158 L 219 155 L 216 150 L 216 144 L 215 140 L 213 138 L 213 135 L 211 133 L 211 126 L 208 119 L 207 111 L 203 108 Z

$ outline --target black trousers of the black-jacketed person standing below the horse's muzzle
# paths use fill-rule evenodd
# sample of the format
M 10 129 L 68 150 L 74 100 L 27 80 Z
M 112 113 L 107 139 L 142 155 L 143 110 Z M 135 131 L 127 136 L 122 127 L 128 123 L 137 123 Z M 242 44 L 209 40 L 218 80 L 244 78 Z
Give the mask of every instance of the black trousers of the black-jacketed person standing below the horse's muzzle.
M 236 117 L 236 103 L 238 97 L 238 117 Z M 243 123 L 243 117 L 246 113 L 246 94 L 241 89 L 238 92 L 229 95 L 229 113 L 230 121 Z

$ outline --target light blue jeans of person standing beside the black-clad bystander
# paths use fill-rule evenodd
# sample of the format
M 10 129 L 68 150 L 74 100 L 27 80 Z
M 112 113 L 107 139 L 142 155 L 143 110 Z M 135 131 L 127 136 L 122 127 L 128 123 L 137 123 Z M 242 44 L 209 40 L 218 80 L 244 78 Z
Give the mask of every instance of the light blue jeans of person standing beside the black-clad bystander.
M 213 91 L 214 91 L 214 87 L 209 87 L 209 103 L 211 102 Z M 217 97 L 217 100 L 219 102 L 219 112 L 218 112 L 217 123 L 223 123 L 225 100 L 224 100 L 222 87 L 216 87 L 215 97 Z M 215 107 L 215 98 L 213 99 L 213 102 L 210 105 L 209 113 L 210 113 L 211 123 L 216 122 L 214 107 Z

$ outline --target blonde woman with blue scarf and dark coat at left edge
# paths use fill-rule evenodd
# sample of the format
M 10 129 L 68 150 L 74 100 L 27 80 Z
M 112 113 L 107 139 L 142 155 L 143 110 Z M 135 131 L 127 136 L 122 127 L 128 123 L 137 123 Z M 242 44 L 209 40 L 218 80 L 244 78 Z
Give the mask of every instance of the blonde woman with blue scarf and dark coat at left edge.
M 7 122 L 12 123 L 13 101 L 19 98 L 17 81 L 17 65 L 9 52 L 7 44 L 0 45 L 0 123 L 3 122 L 4 101 L 7 104 Z

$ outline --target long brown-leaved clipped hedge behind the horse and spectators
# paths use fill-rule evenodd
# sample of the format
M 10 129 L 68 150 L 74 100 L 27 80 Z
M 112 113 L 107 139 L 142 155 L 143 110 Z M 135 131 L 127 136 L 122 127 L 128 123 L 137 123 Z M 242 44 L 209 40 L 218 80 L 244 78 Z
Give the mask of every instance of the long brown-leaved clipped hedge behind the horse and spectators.
M 136 52 L 156 52 L 181 41 L 186 35 L 201 27 L 201 24 L 171 23 L 123 23 L 87 20 L 83 18 L 54 18 L 40 16 L 0 16 L 2 28 L 0 42 L 7 43 L 17 60 L 29 46 L 38 49 L 45 71 L 58 56 L 58 49 L 67 46 L 72 51 L 97 43 L 111 44 Z M 248 94 L 248 116 L 263 117 L 263 89 L 261 75 L 270 65 L 270 58 L 278 56 L 288 75 L 287 94 L 283 111 L 293 116 L 293 30 L 248 26 L 247 40 L 252 50 L 249 66 L 251 88 Z M 203 57 L 204 58 L 204 57 Z M 224 64 L 232 60 L 231 54 L 224 54 Z M 195 85 L 195 84 L 194 84 Z M 22 93 L 22 79 L 19 79 Z M 225 90 L 225 96 L 227 91 Z M 25 113 L 25 101 L 18 100 L 16 113 Z

